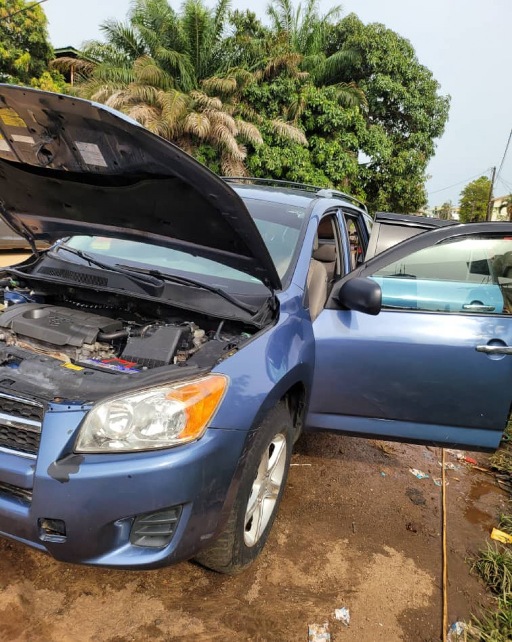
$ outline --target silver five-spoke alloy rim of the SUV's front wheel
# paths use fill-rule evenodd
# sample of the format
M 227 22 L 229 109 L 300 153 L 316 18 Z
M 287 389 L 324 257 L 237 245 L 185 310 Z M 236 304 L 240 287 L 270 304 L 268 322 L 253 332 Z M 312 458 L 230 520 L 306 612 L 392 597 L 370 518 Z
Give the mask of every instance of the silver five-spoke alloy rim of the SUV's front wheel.
M 272 517 L 286 468 L 286 437 L 276 435 L 264 451 L 247 502 L 244 542 L 254 546 Z

